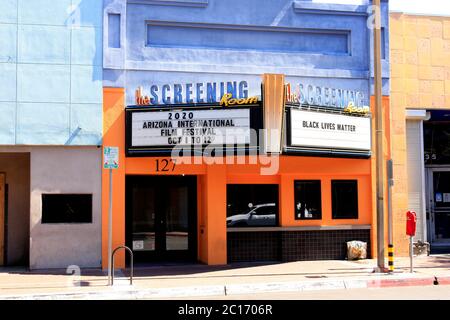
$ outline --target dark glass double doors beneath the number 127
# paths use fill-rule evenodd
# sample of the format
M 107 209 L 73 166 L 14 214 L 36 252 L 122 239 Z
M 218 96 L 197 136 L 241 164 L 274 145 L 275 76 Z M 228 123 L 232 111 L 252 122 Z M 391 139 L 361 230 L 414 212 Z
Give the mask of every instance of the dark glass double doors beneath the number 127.
M 136 262 L 195 261 L 196 176 L 128 176 L 126 242 Z

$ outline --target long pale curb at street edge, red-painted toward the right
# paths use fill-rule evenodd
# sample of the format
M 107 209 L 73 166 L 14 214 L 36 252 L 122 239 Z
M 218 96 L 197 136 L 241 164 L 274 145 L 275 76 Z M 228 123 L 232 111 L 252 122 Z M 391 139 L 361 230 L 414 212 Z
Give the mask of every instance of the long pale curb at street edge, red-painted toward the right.
M 198 287 L 173 287 L 138 289 L 133 286 L 117 286 L 109 291 L 101 292 L 70 292 L 51 294 L 21 294 L 0 296 L 1 299 L 13 300 L 119 300 L 119 299 L 158 299 L 158 298 L 185 298 L 204 296 L 232 296 L 241 294 L 258 294 L 271 292 L 303 292 L 316 290 L 361 289 L 361 288 L 387 288 L 405 286 L 432 286 L 450 285 L 450 276 L 434 277 L 401 277 L 389 279 L 339 279 L 325 281 L 295 281 L 271 282 L 252 284 L 230 284 Z

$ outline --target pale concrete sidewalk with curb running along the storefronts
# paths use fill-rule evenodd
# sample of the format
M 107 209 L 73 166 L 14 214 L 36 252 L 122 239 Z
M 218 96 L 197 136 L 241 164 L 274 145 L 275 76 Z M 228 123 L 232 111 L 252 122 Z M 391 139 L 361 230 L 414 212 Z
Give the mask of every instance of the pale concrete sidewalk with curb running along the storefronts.
M 116 271 L 113 287 L 100 269 L 83 269 L 81 276 L 74 276 L 63 269 L 0 268 L 0 299 L 160 299 L 450 285 L 449 254 L 415 257 L 414 273 L 409 273 L 409 258 L 395 260 L 394 274 L 373 273 L 375 266 L 376 260 L 149 266 L 135 269 L 132 286 L 125 278 L 128 270 Z

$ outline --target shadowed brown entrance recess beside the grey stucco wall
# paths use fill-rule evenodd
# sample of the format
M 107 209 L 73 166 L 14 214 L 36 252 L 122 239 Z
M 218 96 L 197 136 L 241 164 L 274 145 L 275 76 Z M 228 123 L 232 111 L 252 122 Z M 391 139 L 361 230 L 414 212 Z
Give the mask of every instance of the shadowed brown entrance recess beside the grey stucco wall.
M 6 265 L 27 265 L 30 234 L 30 154 L 4 152 L 4 149 L 0 148 L 0 172 L 6 174 L 8 185 Z

